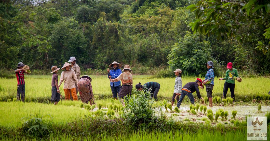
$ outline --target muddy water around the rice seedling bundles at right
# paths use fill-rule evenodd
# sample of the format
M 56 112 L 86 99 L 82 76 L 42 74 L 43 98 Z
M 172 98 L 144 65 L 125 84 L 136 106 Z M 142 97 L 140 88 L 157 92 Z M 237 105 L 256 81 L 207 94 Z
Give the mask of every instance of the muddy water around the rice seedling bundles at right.
M 175 107 L 176 106 L 173 106 L 173 109 Z M 227 122 L 229 122 L 229 119 L 232 118 L 232 111 L 233 110 L 237 111 L 236 119 L 242 119 L 242 120 L 245 120 L 246 115 L 247 116 L 249 116 L 249 115 L 250 116 L 264 116 L 266 112 L 270 112 L 270 106 L 262 106 L 261 107 L 261 111 L 264 113 L 257 113 L 258 106 L 245 106 L 245 105 L 236 105 L 233 107 L 231 107 L 231 106 L 226 106 L 226 107 L 213 106 L 213 107 L 207 107 L 207 109 L 211 109 L 213 111 L 213 114 L 215 114 L 215 112 L 218 109 L 223 109 L 224 112 L 228 111 L 228 116 L 227 116 L 228 121 Z M 172 117 L 174 120 L 189 119 L 190 121 L 194 121 L 194 118 L 195 118 L 196 120 L 194 122 L 202 122 L 201 118 L 204 118 L 204 117 L 207 118 L 207 116 L 205 116 L 205 115 L 202 115 L 200 117 L 198 117 L 196 115 L 189 115 L 189 113 L 187 112 L 187 110 L 190 110 L 189 105 L 180 106 L 180 110 L 181 110 L 180 113 L 170 113 L 170 110 L 168 109 L 169 112 L 166 112 L 166 114 L 169 117 Z M 163 112 L 165 113 L 165 108 L 163 108 Z M 199 113 L 200 113 L 200 110 L 198 110 L 197 114 L 200 115 Z M 173 116 L 173 114 L 177 114 L 179 116 Z M 213 116 L 213 117 L 215 118 L 215 116 Z M 224 122 L 220 121 L 220 119 L 221 119 L 221 117 L 219 117 L 218 122 L 224 123 Z

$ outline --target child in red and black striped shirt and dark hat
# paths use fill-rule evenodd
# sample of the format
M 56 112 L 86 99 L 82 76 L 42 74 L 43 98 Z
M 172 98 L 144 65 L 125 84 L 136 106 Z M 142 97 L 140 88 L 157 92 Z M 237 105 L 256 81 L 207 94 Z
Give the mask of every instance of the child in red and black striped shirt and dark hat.
M 25 81 L 24 81 L 24 73 L 29 74 L 29 72 L 23 69 L 23 63 L 19 62 L 17 69 L 15 70 L 16 78 L 17 78 L 17 100 L 20 100 L 20 95 L 22 96 L 21 100 L 24 102 L 25 99 Z

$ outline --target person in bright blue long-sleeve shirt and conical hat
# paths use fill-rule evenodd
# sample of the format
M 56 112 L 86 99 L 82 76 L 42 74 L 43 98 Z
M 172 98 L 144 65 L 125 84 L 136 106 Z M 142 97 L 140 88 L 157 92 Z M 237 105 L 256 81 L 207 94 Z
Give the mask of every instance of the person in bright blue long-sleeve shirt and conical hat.
M 107 69 L 108 72 L 108 78 L 109 79 L 115 79 L 117 78 L 121 73 L 121 68 L 122 65 L 114 61 L 111 65 L 109 65 L 110 69 Z M 120 80 L 117 82 L 110 82 L 111 90 L 113 93 L 113 98 L 117 99 L 117 94 L 119 94 L 120 89 L 121 89 L 121 82 Z

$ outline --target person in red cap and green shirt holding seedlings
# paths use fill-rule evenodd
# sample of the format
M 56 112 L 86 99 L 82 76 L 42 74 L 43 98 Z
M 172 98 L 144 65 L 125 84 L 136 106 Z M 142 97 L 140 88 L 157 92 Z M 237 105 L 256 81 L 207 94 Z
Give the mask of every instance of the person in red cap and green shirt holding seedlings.
M 226 98 L 228 89 L 231 91 L 231 98 L 235 99 L 234 88 L 235 88 L 235 79 L 239 78 L 237 69 L 232 68 L 232 63 L 229 62 L 227 64 L 226 76 L 224 78 L 220 78 L 219 80 L 226 80 L 223 87 L 223 96 L 222 98 Z M 234 102 L 234 101 L 233 101 Z

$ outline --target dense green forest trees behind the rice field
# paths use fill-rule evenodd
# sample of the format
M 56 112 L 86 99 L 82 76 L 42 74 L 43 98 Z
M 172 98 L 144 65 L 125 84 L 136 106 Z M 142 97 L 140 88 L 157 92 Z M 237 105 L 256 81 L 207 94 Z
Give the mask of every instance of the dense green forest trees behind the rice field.
M 267 5 L 257 9 L 263 11 L 261 14 L 252 10 L 251 16 L 244 14 L 241 17 L 244 21 L 253 20 L 254 24 L 240 23 L 240 28 L 237 26 L 239 24 L 231 23 L 230 31 L 235 36 L 226 34 L 227 38 L 223 38 L 225 35 L 219 32 L 224 40 L 217 40 L 220 36 L 218 34 L 192 35 L 188 25 L 200 16 L 198 12 L 192 12 L 195 10 L 194 5 L 193 8 L 189 7 L 192 11 L 186 7 L 197 2 L 1 1 L 0 63 L 3 68 L 13 70 L 19 61 L 29 65 L 31 69 L 50 69 L 53 65 L 62 66 L 71 56 L 75 56 L 84 70 L 104 70 L 110 63 L 117 61 L 144 69 L 144 72 L 165 67 L 181 68 L 183 73 L 204 74 L 207 70 L 204 62 L 211 60 L 217 66 L 217 75 L 228 62 L 249 74 L 270 73 L 270 53 L 265 53 L 265 49 L 265 54 L 255 49 L 256 46 L 263 49 L 268 45 L 266 32 L 269 31 L 264 31 L 269 28 L 269 9 L 265 9 L 268 8 Z M 224 2 L 217 2 L 216 5 L 220 3 Z M 195 5 L 196 8 L 198 6 Z M 223 7 L 226 10 L 231 8 L 231 4 Z M 239 8 L 241 5 L 238 4 Z M 258 16 L 264 18 L 259 20 Z M 216 17 L 215 23 L 221 20 L 227 22 L 232 17 L 218 18 L 221 16 Z M 225 27 L 222 23 L 218 27 L 223 29 Z M 210 27 L 205 24 L 195 26 L 201 29 Z M 196 32 L 194 28 L 192 30 Z M 207 33 L 210 32 L 214 33 Z M 243 39 L 239 42 L 238 36 L 243 35 L 247 35 L 252 41 Z M 258 41 L 261 41 L 260 45 L 257 45 Z M 162 77 L 169 74 L 159 75 Z

